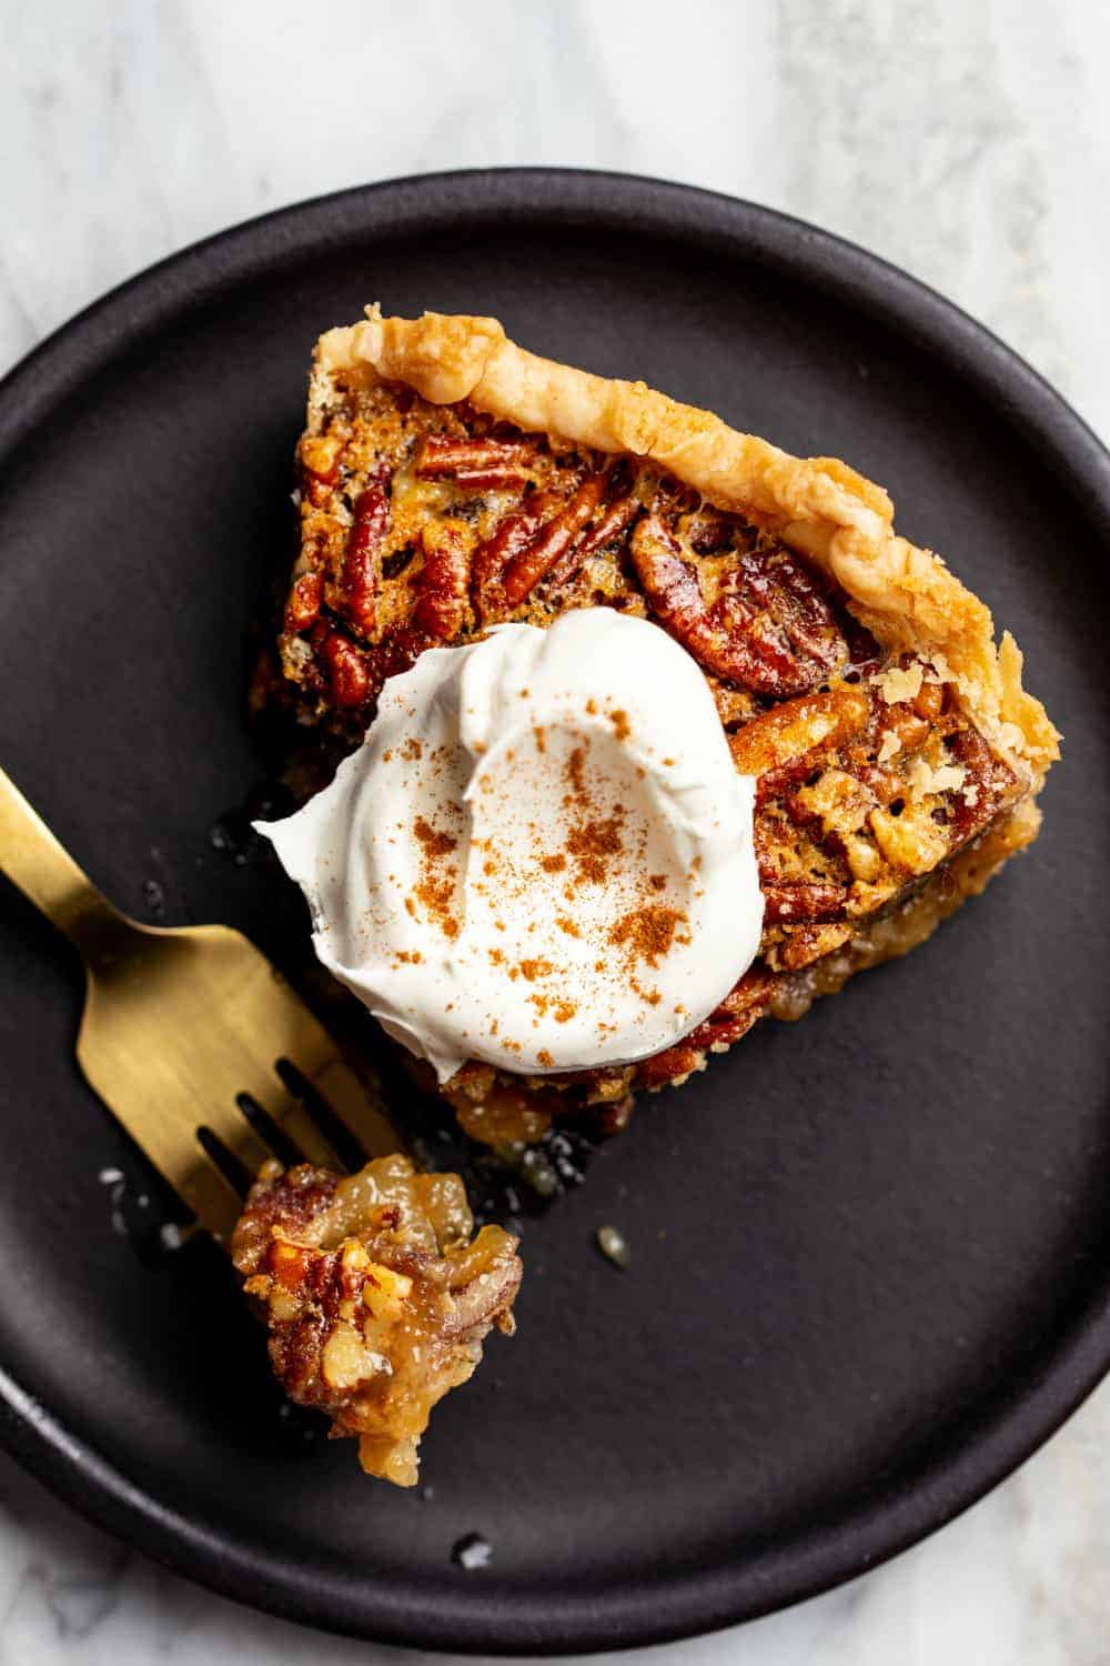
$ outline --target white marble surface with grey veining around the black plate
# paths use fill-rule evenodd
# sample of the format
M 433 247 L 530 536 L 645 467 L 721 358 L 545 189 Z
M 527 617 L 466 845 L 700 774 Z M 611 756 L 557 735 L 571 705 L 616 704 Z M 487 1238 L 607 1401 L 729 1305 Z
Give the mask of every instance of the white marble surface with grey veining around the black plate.
M 1110 433 L 1110 8 L 1098 0 L 0 0 L 0 368 L 261 210 L 483 163 L 657 173 L 937 285 Z M 0 1663 L 384 1661 L 235 1608 L 0 1459 Z M 652 1651 L 744 1666 L 1107 1666 L 1110 1386 L 847 1589 Z M 647 1661 L 647 1656 L 642 1656 Z

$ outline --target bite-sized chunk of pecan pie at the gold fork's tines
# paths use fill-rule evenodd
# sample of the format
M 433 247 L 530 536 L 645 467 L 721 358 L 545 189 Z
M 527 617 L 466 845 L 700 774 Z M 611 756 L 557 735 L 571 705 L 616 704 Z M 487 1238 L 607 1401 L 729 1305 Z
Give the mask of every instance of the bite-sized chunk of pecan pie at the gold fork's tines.
M 491 1326 L 513 1334 L 516 1238 L 473 1226 L 456 1175 L 388 1156 L 344 1180 L 268 1163 L 235 1230 L 286 1394 L 356 1434 L 363 1469 L 398 1486 L 414 1484 L 431 1409 L 473 1376 Z

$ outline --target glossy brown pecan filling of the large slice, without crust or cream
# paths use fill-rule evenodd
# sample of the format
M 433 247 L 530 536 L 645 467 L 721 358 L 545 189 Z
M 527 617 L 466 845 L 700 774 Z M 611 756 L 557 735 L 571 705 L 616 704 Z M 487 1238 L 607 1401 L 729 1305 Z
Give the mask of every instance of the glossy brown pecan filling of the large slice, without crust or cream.
M 756 776 L 766 906 L 751 970 L 679 1045 L 634 1065 L 546 1080 L 464 1065 L 441 1091 L 474 1136 L 534 1138 L 584 1106 L 619 1126 L 636 1088 L 682 1081 L 759 1018 L 795 1018 L 904 953 L 1035 836 L 1040 776 L 987 738 L 945 655 L 880 646 L 772 516 L 726 511 L 642 456 L 433 403 L 358 360 L 318 370 L 313 388 L 281 675 L 263 666 L 258 705 L 291 706 L 341 755 L 384 680 L 424 650 L 604 606 L 686 648 L 737 770 Z

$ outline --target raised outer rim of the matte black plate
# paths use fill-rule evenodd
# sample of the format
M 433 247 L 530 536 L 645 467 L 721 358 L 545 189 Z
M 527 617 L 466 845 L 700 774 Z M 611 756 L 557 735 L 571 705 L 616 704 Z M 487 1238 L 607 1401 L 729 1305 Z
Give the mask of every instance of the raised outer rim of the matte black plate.
M 45 407 L 67 397 L 125 343 L 156 338 L 185 302 L 210 305 L 248 273 L 341 243 L 384 208 L 396 235 L 404 218 L 528 210 L 566 223 L 626 217 L 657 235 L 697 232 L 741 247 L 929 350 L 972 385 L 1060 475 L 1110 540 L 1110 451 L 1090 425 L 985 325 L 900 267 L 809 222 L 761 203 L 679 182 L 591 168 L 461 168 L 356 185 L 245 220 L 160 260 L 92 302 L 33 347 L 0 380 L 0 455 L 33 436 Z M 664 1583 L 629 1583 L 604 1596 L 559 1599 L 546 1621 L 528 1608 L 483 1603 L 469 1584 L 458 1604 L 389 1594 L 366 1584 L 358 1601 L 321 1608 L 321 1593 L 293 1563 L 280 1564 L 146 1494 L 67 1429 L 0 1361 L 0 1443 L 65 1503 L 135 1549 L 221 1596 L 326 1631 L 454 1653 L 569 1654 L 676 1641 L 754 1619 L 815 1596 L 944 1526 L 1037 1451 L 1110 1371 L 1110 1268 L 1072 1321 L 1048 1366 L 1000 1384 L 964 1443 L 940 1454 L 905 1493 L 862 1501 L 830 1526 L 790 1543 L 790 1554 L 756 1554 L 726 1568 L 686 1569 Z M 1007 1388 L 1008 1391 L 1002 1391 Z M 997 1401 L 997 1406 L 995 1406 Z M 784 1564 L 789 1563 L 789 1564 Z M 766 1564 L 766 1566 L 764 1566 Z M 463 1596 L 463 1593 L 461 1593 Z M 554 1634 L 553 1634 L 554 1631 Z

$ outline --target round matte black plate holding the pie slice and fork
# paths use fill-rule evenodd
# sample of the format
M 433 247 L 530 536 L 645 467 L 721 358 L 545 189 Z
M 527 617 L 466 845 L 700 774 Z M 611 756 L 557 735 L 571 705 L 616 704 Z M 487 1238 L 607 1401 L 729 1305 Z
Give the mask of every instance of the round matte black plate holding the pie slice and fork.
M 1045 833 L 904 963 L 652 1100 L 526 1233 L 519 1336 L 436 1413 L 434 1496 L 276 1414 L 210 1246 L 148 1266 L 141 1175 L 73 1066 L 68 950 L 0 893 L 5 1438 L 220 1591 L 426 1646 L 721 1626 L 855 1574 L 1027 1456 L 1110 1361 L 1110 460 L 1020 360 L 879 260 L 646 180 L 459 173 L 258 220 L 93 307 L 0 393 L 0 760 L 125 906 L 303 933 L 213 850 L 260 765 L 246 623 L 290 536 L 318 330 L 491 312 L 884 481 L 1017 633 L 1067 731 Z M 594 1248 L 616 1223 L 627 1274 Z M 484 1534 L 493 1564 L 449 1559 Z

